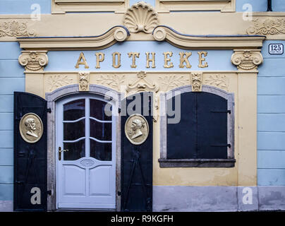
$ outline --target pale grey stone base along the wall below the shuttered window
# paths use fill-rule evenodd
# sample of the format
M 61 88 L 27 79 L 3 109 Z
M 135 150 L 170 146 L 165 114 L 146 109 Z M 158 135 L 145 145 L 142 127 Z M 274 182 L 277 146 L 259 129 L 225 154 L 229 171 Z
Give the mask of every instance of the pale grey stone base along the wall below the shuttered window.
M 153 186 L 153 211 L 259 210 L 285 210 L 285 186 Z

